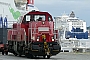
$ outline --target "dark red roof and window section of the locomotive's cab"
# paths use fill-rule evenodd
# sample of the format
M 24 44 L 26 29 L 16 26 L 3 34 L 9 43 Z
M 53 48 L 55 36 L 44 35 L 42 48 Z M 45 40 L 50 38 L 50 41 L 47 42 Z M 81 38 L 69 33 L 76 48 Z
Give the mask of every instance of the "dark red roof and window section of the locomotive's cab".
M 48 13 L 41 13 L 39 11 L 36 12 L 26 14 L 22 20 L 22 23 L 28 23 L 30 21 L 53 21 L 51 15 L 49 15 Z

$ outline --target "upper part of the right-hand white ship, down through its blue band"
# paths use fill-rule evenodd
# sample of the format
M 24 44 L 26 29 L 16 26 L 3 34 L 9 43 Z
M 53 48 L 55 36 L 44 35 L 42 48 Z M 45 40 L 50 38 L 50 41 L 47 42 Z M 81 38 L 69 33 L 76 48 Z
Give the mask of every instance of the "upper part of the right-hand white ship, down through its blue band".
M 73 11 L 69 16 L 64 13 L 62 16 L 56 17 L 56 29 L 60 30 L 62 39 L 88 39 L 86 22 L 75 17 Z

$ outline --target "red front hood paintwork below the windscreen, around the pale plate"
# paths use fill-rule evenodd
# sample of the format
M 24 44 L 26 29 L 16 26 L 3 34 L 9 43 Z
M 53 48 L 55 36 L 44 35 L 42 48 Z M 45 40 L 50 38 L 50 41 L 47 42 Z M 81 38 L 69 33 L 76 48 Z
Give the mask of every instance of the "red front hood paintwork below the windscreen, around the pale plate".
M 34 32 L 34 28 L 36 28 L 36 33 L 35 34 L 32 34 L 32 36 L 35 36 L 35 38 L 37 36 L 40 36 L 40 42 L 42 42 L 42 34 L 45 34 L 46 35 L 46 39 L 47 39 L 46 41 L 47 42 L 52 42 L 51 41 L 51 37 L 54 36 L 54 34 L 53 34 L 53 32 L 54 32 L 53 22 L 44 21 L 44 23 L 45 23 L 44 25 L 42 24 L 42 21 L 39 21 L 39 22 L 30 22 L 29 23 L 29 28 L 33 28 L 32 29 L 32 32 Z M 32 24 L 32 27 L 31 27 L 31 24 Z M 35 24 L 36 24 L 36 26 L 35 26 Z M 39 31 L 38 30 L 38 27 L 48 27 L 49 28 L 49 31 Z M 32 32 L 30 32 L 29 36 L 31 36 L 31 33 Z M 29 38 L 29 40 L 30 40 L 30 38 Z

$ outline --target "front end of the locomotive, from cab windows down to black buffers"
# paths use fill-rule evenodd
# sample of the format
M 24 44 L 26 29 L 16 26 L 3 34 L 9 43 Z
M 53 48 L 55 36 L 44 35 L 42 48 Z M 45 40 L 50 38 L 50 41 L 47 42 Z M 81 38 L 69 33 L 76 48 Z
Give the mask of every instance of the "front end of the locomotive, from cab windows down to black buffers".
M 34 19 L 29 22 L 28 28 L 28 41 L 32 42 L 32 53 L 49 56 L 58 54 L 61 47 L 58 32 L 54 30 L 52 16 L 47 12 L 32 12 L 25 17 L 26 21 Z M 35 53 L 35 51 L 38 52 Z

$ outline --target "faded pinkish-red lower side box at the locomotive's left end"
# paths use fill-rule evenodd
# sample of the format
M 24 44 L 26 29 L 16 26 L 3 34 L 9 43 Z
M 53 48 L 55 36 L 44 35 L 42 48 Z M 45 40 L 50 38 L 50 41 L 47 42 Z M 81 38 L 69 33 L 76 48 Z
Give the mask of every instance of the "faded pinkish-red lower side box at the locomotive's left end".
M 24 41 L 25 39 L 25 30 L 23 28 L 16 30 L 8 30 L 8 40 L 11 41 Z

